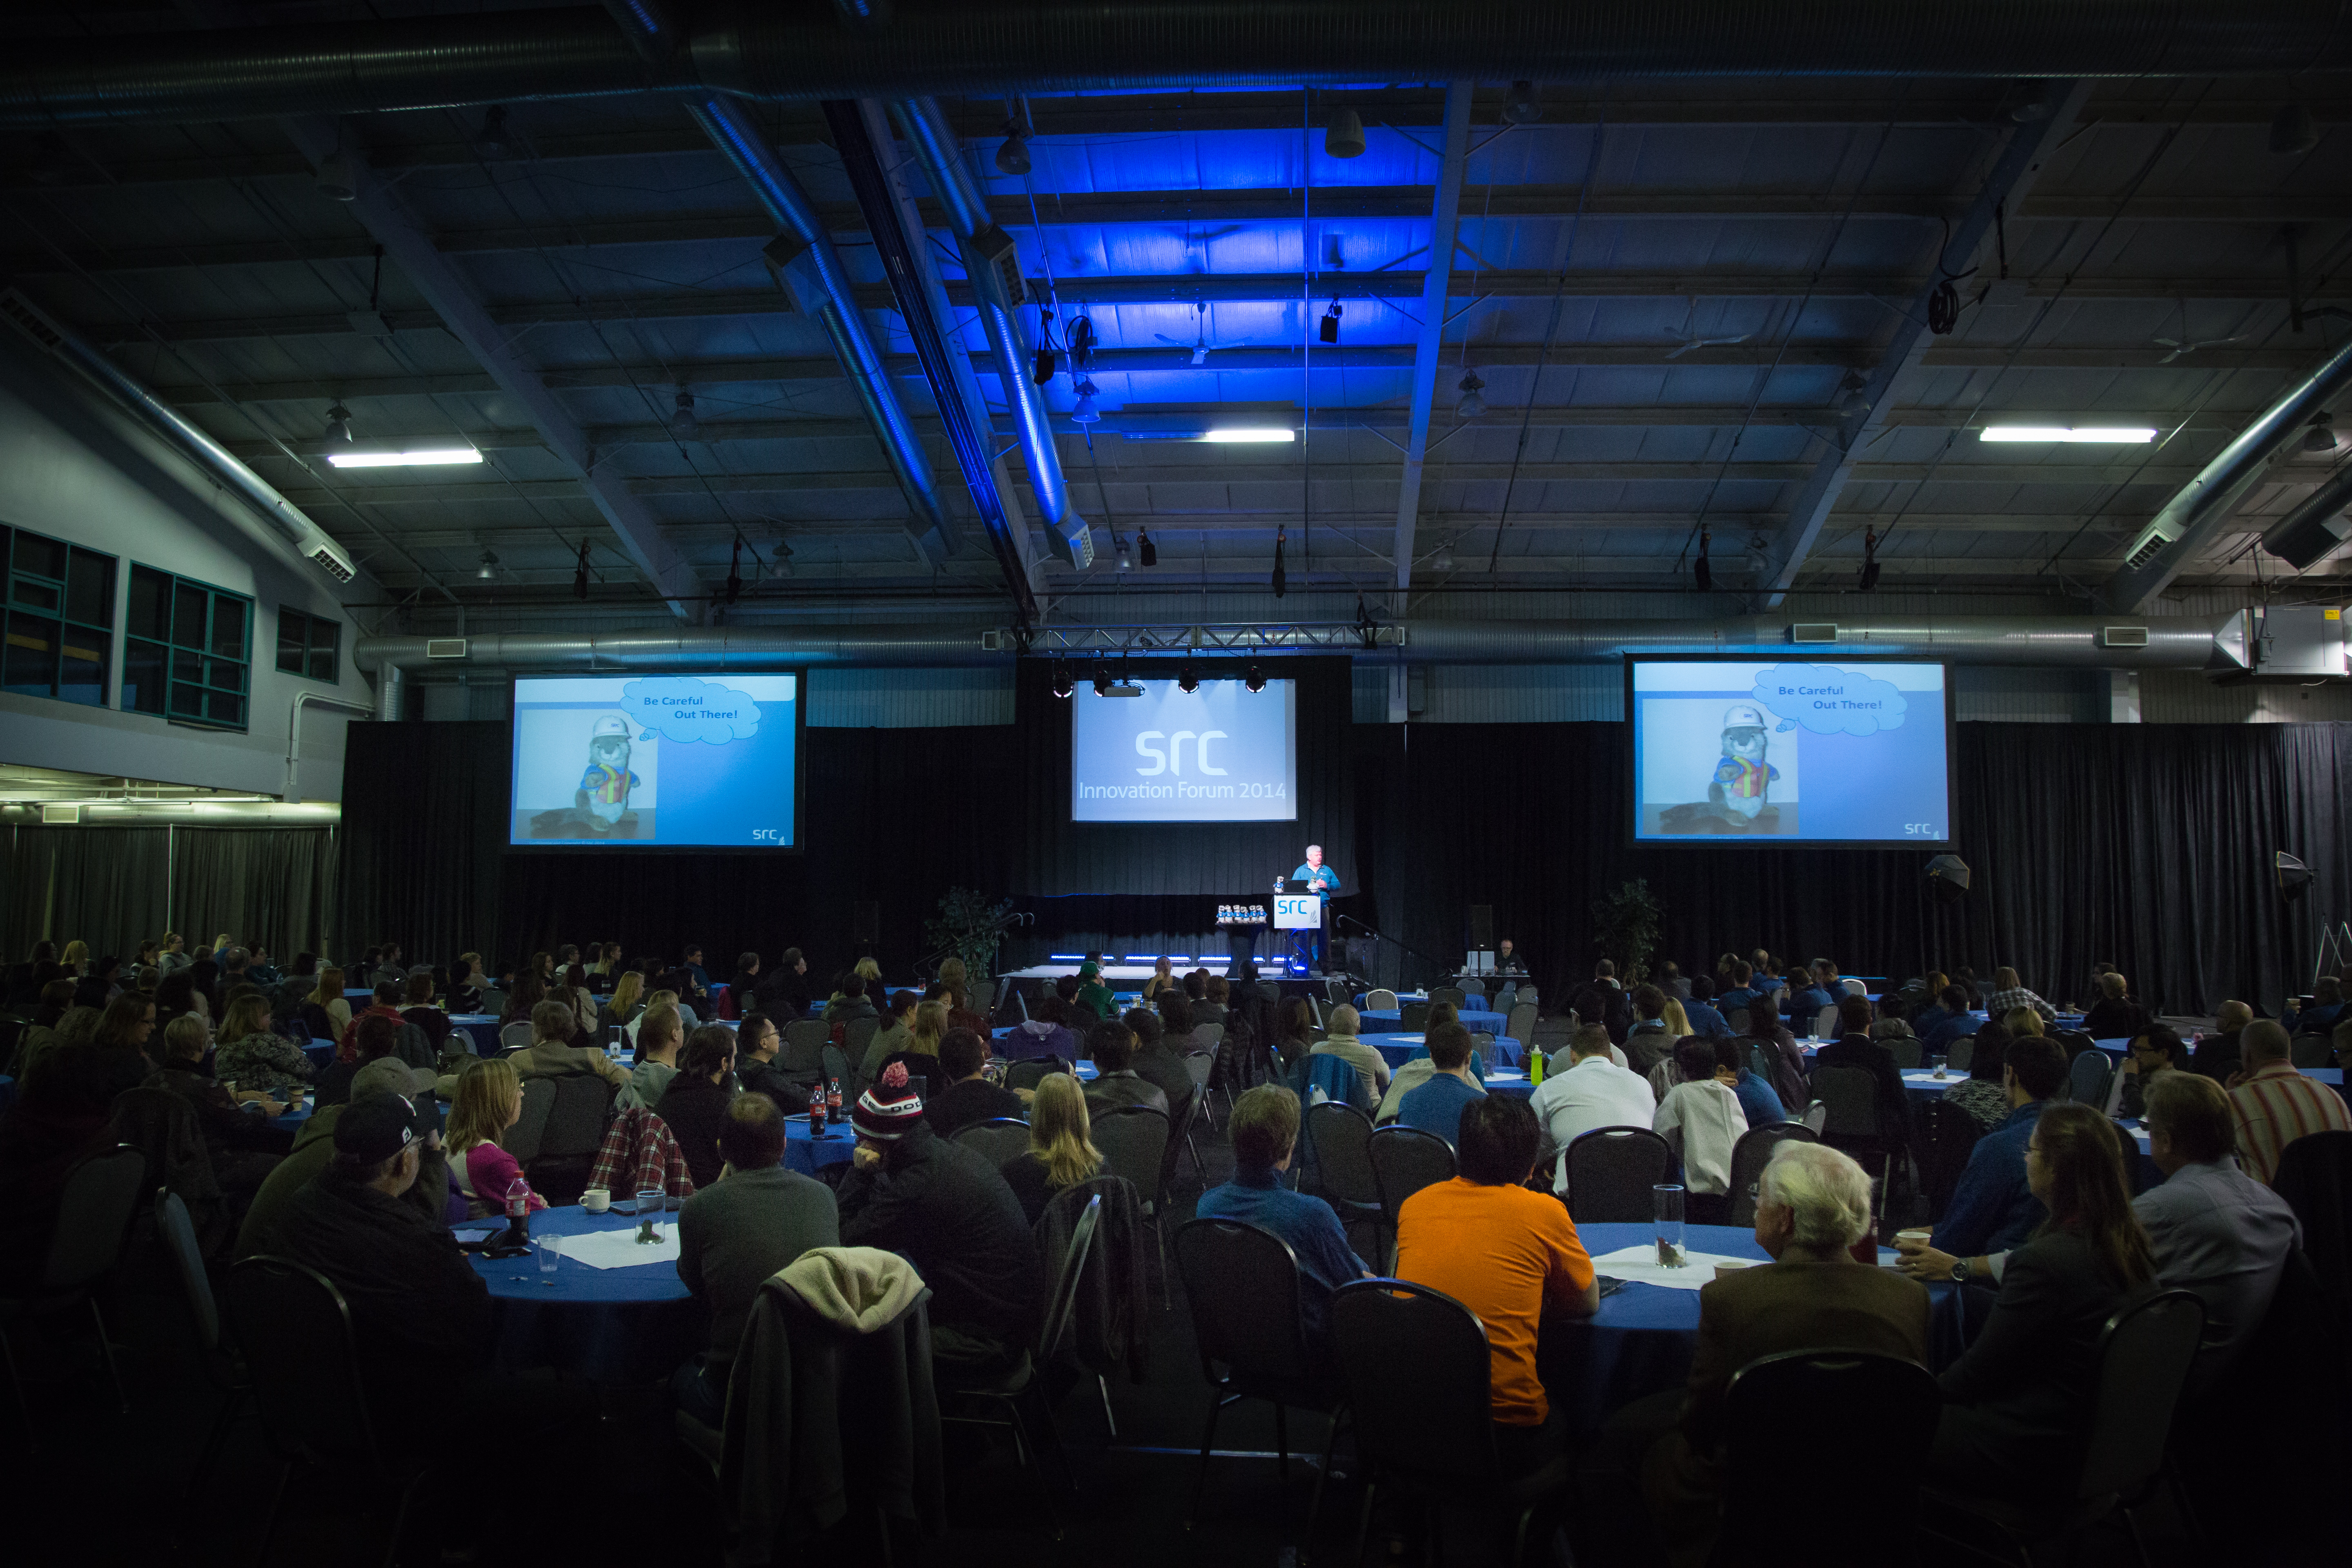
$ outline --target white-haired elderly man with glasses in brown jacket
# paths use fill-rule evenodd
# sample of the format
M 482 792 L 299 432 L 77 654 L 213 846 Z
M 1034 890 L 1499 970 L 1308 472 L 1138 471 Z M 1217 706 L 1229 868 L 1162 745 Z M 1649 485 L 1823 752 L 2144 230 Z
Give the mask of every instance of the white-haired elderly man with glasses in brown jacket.
M 1698 1347 L 1679 1394 L 1609 1420 L 1646 1446 L 1642 1493 L 1677 1568 L 1712 1559 L 1724 1497 L 1724 1394 L 1738 1371 L 1788 1349 L 1863 1349 L 1926 1361 L 1929 1293 L 1853 1260 L 1870 1234 L 1870 1173 L 1820 1143 L 1783 1143 L 1757 1182 L 1757 1246 L 1771 1262 L 1717 1274 L 1698 1291 Z M 1653 1446 L 1639 1436 L 1672 1422 Z M 1628 1455 L 1630 1458 L 1630 1455 Z M 1755 1519 L 1722 1521 L 1733 1530 Z

